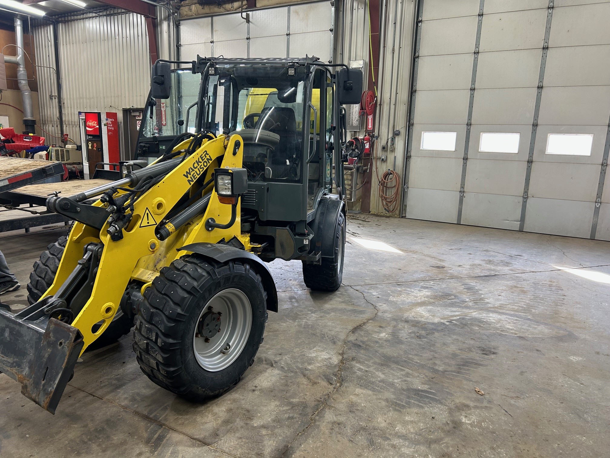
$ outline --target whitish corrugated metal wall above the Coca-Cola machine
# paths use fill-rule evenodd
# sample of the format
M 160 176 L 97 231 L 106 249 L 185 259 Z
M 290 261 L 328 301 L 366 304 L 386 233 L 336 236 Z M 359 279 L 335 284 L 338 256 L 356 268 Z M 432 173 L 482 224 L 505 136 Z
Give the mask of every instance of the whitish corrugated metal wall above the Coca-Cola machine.
M 173 24 L 168 25 L 165 10 L 158 10 L 160 57 L 173 57 Z M 65 132 L 79 143 L 79 111 L 114 111 L 122 134 L 122 110 L 141 107 L 150 87 L 145 19 L 118 9 L 104 16 L 71 15 L 59 23 L 58 38 Z M 52 26 L 34 27 L 34 39 L 41 65 L 55 67 Z M 41 125 L 59 136 L 53 73 L 40 72 Z

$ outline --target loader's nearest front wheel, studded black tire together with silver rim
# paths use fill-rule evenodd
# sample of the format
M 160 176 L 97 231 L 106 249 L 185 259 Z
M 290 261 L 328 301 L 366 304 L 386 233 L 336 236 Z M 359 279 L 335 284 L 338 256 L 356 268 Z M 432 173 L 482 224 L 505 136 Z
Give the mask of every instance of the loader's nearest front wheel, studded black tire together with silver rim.
M 237 385 L 254 362 L 267 321 L 267 294 L 248 263 L 182 256 L 161 269 L 144 296 L 135 319 L 134 351 L 152 382 L 194 401 L 215 398 Z M 237 305 L 231 305 L 231 297 Z M 207 331 L 198 324 L 200 319 L 202 325 L 206 322 L 212 303 L 214 313 L 224 312 L 217 325 L 220 331 L 214 330 L 206 343 L 198 330 Z M 240 338 L 225 335 L 234 327 L 247 332 L 235 334 Z M 227 352 L 225 340 L 234 343 Z

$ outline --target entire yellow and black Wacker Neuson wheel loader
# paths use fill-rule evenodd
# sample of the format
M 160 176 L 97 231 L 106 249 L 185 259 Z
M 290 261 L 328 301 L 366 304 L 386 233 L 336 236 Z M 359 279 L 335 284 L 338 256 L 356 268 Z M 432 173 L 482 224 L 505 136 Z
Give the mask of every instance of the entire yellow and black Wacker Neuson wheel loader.
M 133 327 L 157 385 L 195 400 L 234 387 L 278 311 L 266 262 L 340 286 L 342 104 L 361 92 L 362 71 L 315 57 L 157 61 L 124 176 L 48 198 L 74 224 L 34 264 L 31 305 L 0 307 L 0 371 L 54 413 L 79 355 Z

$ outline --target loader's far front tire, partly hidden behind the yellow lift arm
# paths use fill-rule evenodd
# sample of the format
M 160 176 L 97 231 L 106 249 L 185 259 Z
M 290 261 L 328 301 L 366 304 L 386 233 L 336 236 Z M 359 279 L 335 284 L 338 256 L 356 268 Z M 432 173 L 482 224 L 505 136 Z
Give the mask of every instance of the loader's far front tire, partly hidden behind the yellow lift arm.
M 34 263 L 34 270 L 30 272 L 30 282 L 27 283 L 28 304 L 37 302 L 52 285 L 67 242 L 68 238 L 61 236 L 56 242 L 49 244 L 46 251 L 40 255 L 40 259 Z M 113 319 L 104 333 L 87 349 L 95 350 L 115 343 L 121 336 L 129 333 L 133 325 L 132 320 L 126 314 Z

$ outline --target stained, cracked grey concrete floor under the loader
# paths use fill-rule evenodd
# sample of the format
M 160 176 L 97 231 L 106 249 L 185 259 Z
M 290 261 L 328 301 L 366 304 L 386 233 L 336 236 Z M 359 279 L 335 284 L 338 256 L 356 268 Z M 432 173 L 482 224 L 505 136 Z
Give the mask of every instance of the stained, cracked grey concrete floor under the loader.
M 58 235 L 0 238 L 23 285 Z M 336 293 L 270 264 L 280 310 L 228 394 L 162 390 L 126 336 L 55 416 L 0 375 L 0 456 L 609 456 L 608 242 L 364 215 L 348 237 Z

